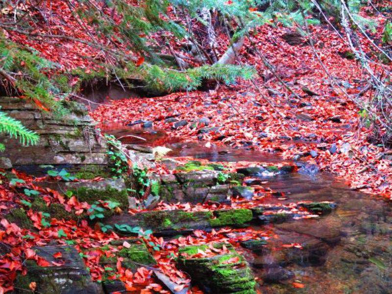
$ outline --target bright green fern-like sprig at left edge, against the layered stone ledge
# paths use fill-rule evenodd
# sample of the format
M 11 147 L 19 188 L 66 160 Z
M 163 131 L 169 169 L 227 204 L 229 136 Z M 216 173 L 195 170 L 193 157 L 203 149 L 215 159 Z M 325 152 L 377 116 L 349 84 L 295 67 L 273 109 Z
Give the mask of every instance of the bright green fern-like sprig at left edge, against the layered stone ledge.
M 39 140 L 39 135 L 33 131 L 28 130 L 21 122 L 7 116 L 0 111 L 0 132 L 8 133 L 11 138 L 19 138 L 19 141 L 25 145 L 36 145 Z M 1 144 L 0 151 L 5 149 Z

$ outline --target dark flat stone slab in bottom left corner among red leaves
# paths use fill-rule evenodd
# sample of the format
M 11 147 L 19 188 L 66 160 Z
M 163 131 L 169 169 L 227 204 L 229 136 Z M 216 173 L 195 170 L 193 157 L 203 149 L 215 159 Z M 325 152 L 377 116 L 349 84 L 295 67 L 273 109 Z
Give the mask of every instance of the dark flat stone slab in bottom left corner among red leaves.
M 20 274 L 15 285 L 29 289 L 30 282 L 36 282 L 37 293 L 43 294 L 102 294 L 102 287 L 91 281 L 89 272 L 77 250 L 72 246 L 37 246 L 32 248 L 38 256 L 44 258 L 51 266 L 40 267 L 34 260 L 27 260 L 27 274 Z M 61 253 L 55 258 L 53 254 Z M 62 263 L 54 266 L 51 262 Z

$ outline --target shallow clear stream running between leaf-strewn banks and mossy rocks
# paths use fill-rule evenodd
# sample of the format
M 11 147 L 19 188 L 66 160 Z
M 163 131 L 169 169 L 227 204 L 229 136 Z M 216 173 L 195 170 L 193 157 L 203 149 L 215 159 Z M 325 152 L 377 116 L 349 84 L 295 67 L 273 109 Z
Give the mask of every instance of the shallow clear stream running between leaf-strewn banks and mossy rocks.
M 277 154 L 229 147 L 206 148 L 202 143 L 183 143 L 163 131 L 118 127 L 105 129 L 123 143 L 165 145 L 169 156 L 192 156 L 210 161 L 260 161 L 277 163 Z M 263 177 L 263 186 L 276 193 L 265 203 L 289 204 L 299 201 L 331 201 L 337 208 L 317 219 L 253 226 L 271 230 L 265 249 L 239 249 L 260 278 L 261 293 L 391 293 L 392 292 L 392 210 L 375 196 L 351 190 L 334 176 L 315 168 L 296 173 Z M 300 244 L 302 249 L 281 248 Z M 279 247 L 279 249 L 277 249 Z M 293 282 L 305 285 L 293 287 Z

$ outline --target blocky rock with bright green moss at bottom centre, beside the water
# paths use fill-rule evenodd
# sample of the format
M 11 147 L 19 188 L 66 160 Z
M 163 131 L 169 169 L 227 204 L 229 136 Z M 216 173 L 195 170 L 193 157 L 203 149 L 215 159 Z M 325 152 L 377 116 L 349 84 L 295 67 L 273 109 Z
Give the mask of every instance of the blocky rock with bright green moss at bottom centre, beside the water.
M 179 248 L 178 267 L 189 273 L 192 282 L 206 293 L 256 294 L 253 274 L 243 256 L 228 244 L 214 244 L 215 248 L 227 246 L 229 252 L 207 258 L 192 258 L 207 245 Z M 191 257 L 190 257 L 191 256 Z

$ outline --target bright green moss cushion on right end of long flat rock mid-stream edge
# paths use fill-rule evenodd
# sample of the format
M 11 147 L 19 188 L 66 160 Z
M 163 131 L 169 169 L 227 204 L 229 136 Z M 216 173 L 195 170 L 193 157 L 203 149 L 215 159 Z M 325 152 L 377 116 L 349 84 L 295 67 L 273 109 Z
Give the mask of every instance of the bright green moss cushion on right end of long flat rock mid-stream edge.
M 212 226 L 241 225 L 252 220 L 249 209 L 232 209 L 215 211 L 215 219 L 210 220 Z

